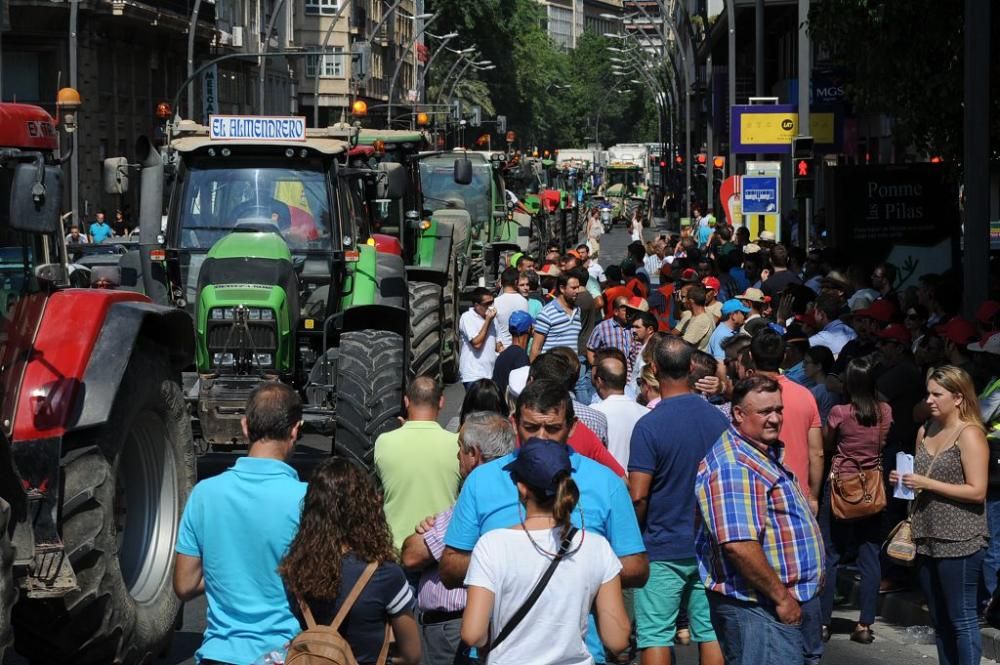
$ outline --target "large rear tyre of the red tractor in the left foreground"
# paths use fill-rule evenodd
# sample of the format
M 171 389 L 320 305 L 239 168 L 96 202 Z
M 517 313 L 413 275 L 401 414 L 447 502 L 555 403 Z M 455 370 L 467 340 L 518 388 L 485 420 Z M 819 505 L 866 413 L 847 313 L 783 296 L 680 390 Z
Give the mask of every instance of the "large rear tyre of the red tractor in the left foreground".
M 60 528 L 79 590 L 15 607 L 15 646 L 32 663 L 150 663 L 169 645 L 174 546 L 196 473 L 169 366 L 163 349 L 138 346 L 108 422 L 63 456 Z

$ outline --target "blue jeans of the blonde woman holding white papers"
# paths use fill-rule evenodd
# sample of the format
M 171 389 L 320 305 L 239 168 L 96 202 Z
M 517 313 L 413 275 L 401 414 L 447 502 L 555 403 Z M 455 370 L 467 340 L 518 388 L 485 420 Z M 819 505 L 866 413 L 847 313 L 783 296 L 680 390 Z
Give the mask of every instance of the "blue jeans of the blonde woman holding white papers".
M 982 657 L 976 598 L 985 552 L 954 559 L 918 557 L 917 576 L 934 624 L 940 665 L 978 665 Z

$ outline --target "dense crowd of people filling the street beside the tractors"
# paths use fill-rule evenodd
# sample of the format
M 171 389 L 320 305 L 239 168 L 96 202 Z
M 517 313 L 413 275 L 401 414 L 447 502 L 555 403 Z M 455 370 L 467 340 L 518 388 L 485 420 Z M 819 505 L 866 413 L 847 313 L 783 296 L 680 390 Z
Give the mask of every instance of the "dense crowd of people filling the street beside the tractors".
M 706 665 L 813 664 L 853 560 L 851 640 L 877 639 L 879 594 L 913 584 L 939 662 L 978 663 L 1000 569 L 1000 303 L 968 320 L 950 274 L 898 289 L 888 263 L 695 224 L 619 264 L 591 242 L 511 256 L 458 322 L 458 418 L 442 427 L 441 385 L 412 380 L 375 444 L 378 489 L 336 458 L 300 483 L 283 461 L 298 398 L 258 389 L 250 455 L 182 520 L 175 588 L 209 598 L 201 662 L 333 622 L 362 664 L 384 662 L 387 624 L 425 665 L 630 645 L 659 665 L 686 641 Z M 903 521 L 915 567 L 883 548 Z

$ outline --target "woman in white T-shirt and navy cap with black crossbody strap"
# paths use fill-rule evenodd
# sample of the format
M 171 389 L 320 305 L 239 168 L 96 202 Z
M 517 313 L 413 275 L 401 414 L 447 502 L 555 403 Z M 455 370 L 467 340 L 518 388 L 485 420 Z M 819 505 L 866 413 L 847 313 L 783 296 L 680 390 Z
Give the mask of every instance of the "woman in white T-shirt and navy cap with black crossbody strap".
M 504 469 L 517 483 L 524 513 L 520 524 L 490 531 L 472 551 L 462 640 L 475 647 L 485 646 L 490 635 L 495 639 L 531 595 L 573 530 L 570 516 L 580 499 L 565 444 L 530 439 Z M 538 601 L 490 650 L 489 665 L 593 663 L 584 643 L 591 607 L 605 647 L 625 650 L 630 625 L 620 573 L 608 541 L 577 530 Z

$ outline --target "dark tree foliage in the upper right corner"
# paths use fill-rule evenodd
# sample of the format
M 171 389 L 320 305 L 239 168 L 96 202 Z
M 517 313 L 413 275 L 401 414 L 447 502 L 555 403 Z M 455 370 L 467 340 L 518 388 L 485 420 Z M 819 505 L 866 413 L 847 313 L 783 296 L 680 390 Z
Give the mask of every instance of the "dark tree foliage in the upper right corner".
M 809 32 L 845 70 L 845 92 L 858 111 L 893 118 L 901 147 L 954 159 L 962 154 L 963 6 L 955 0 L 823 0 L 812 3 Z M 991 14 L 997 53 L 1000 12 Z M 996 57 L 988 60 L 996 91 L 1000 67 Z M 991 145 L 997 146 L 1000 94 L 981 93 L 981 103 L 991 105 Z

